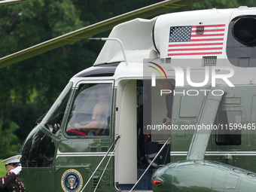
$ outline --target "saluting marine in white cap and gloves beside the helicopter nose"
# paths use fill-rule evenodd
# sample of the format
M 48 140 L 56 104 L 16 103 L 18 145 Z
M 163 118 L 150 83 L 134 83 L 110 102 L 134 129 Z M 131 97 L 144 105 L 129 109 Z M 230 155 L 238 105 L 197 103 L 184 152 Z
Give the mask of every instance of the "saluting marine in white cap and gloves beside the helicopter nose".
M 25 191 L 25 186 L 17 175 L 20 174 L 20 157 L 21 155 L 16 155 L 10 157 L 2 162 L 5 163 L 5 169 L 7 174 L 5 177 L 0 178 L 0 191 L 1 192 L 23 192 Z

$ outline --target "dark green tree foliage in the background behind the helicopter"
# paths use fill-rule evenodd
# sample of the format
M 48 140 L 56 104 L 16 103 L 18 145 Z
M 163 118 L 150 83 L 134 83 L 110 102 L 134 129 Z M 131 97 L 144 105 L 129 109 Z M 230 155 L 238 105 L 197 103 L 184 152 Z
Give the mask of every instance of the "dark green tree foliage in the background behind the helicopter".
M 157 0 L 36 0 L 0 6 L 0 56 Z M 206 0 L 178 11 L 254 6 L 251 0 Z M 108 32 L 101 37 L 108 36 Z M 102 42 L 87 39 L 0 69 L 0 158 L 17 153 L 35 120 L 50 108 L 73 75 L 92 66 Z M 18 138 L 18 139 L 17 139 Z

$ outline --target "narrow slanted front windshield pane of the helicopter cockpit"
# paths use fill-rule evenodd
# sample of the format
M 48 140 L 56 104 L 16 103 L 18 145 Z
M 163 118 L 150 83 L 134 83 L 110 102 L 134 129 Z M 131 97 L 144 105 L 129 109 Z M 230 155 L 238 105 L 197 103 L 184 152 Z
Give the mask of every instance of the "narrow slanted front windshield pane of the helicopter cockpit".
M 66 110 L 66 105 L 68 103 L 71 90 L 72 83 L 69 83 L 42 120 L 41 124 L 43 124 L 44 127 L 47 130 L 50 130 L 50 132 L 53 134 L 58 132 L 62 124 L 62 118 Z

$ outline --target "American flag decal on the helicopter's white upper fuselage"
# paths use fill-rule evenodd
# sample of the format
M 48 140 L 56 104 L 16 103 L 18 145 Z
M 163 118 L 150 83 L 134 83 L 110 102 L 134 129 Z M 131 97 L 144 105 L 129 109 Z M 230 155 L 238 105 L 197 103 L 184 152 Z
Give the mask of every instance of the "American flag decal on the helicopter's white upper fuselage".
M 172 26 L 168 56 L 222 54 L 225 24 Z

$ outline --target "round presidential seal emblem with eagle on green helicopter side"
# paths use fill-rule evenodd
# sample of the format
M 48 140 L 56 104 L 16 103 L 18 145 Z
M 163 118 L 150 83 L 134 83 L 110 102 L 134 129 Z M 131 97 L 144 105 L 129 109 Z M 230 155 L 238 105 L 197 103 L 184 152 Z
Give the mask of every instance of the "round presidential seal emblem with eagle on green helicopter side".
M 65 192 L 78 192 L 83 187 L 83 178 L 75 169 L 68 169 L 61 178 L 61 187 Z

